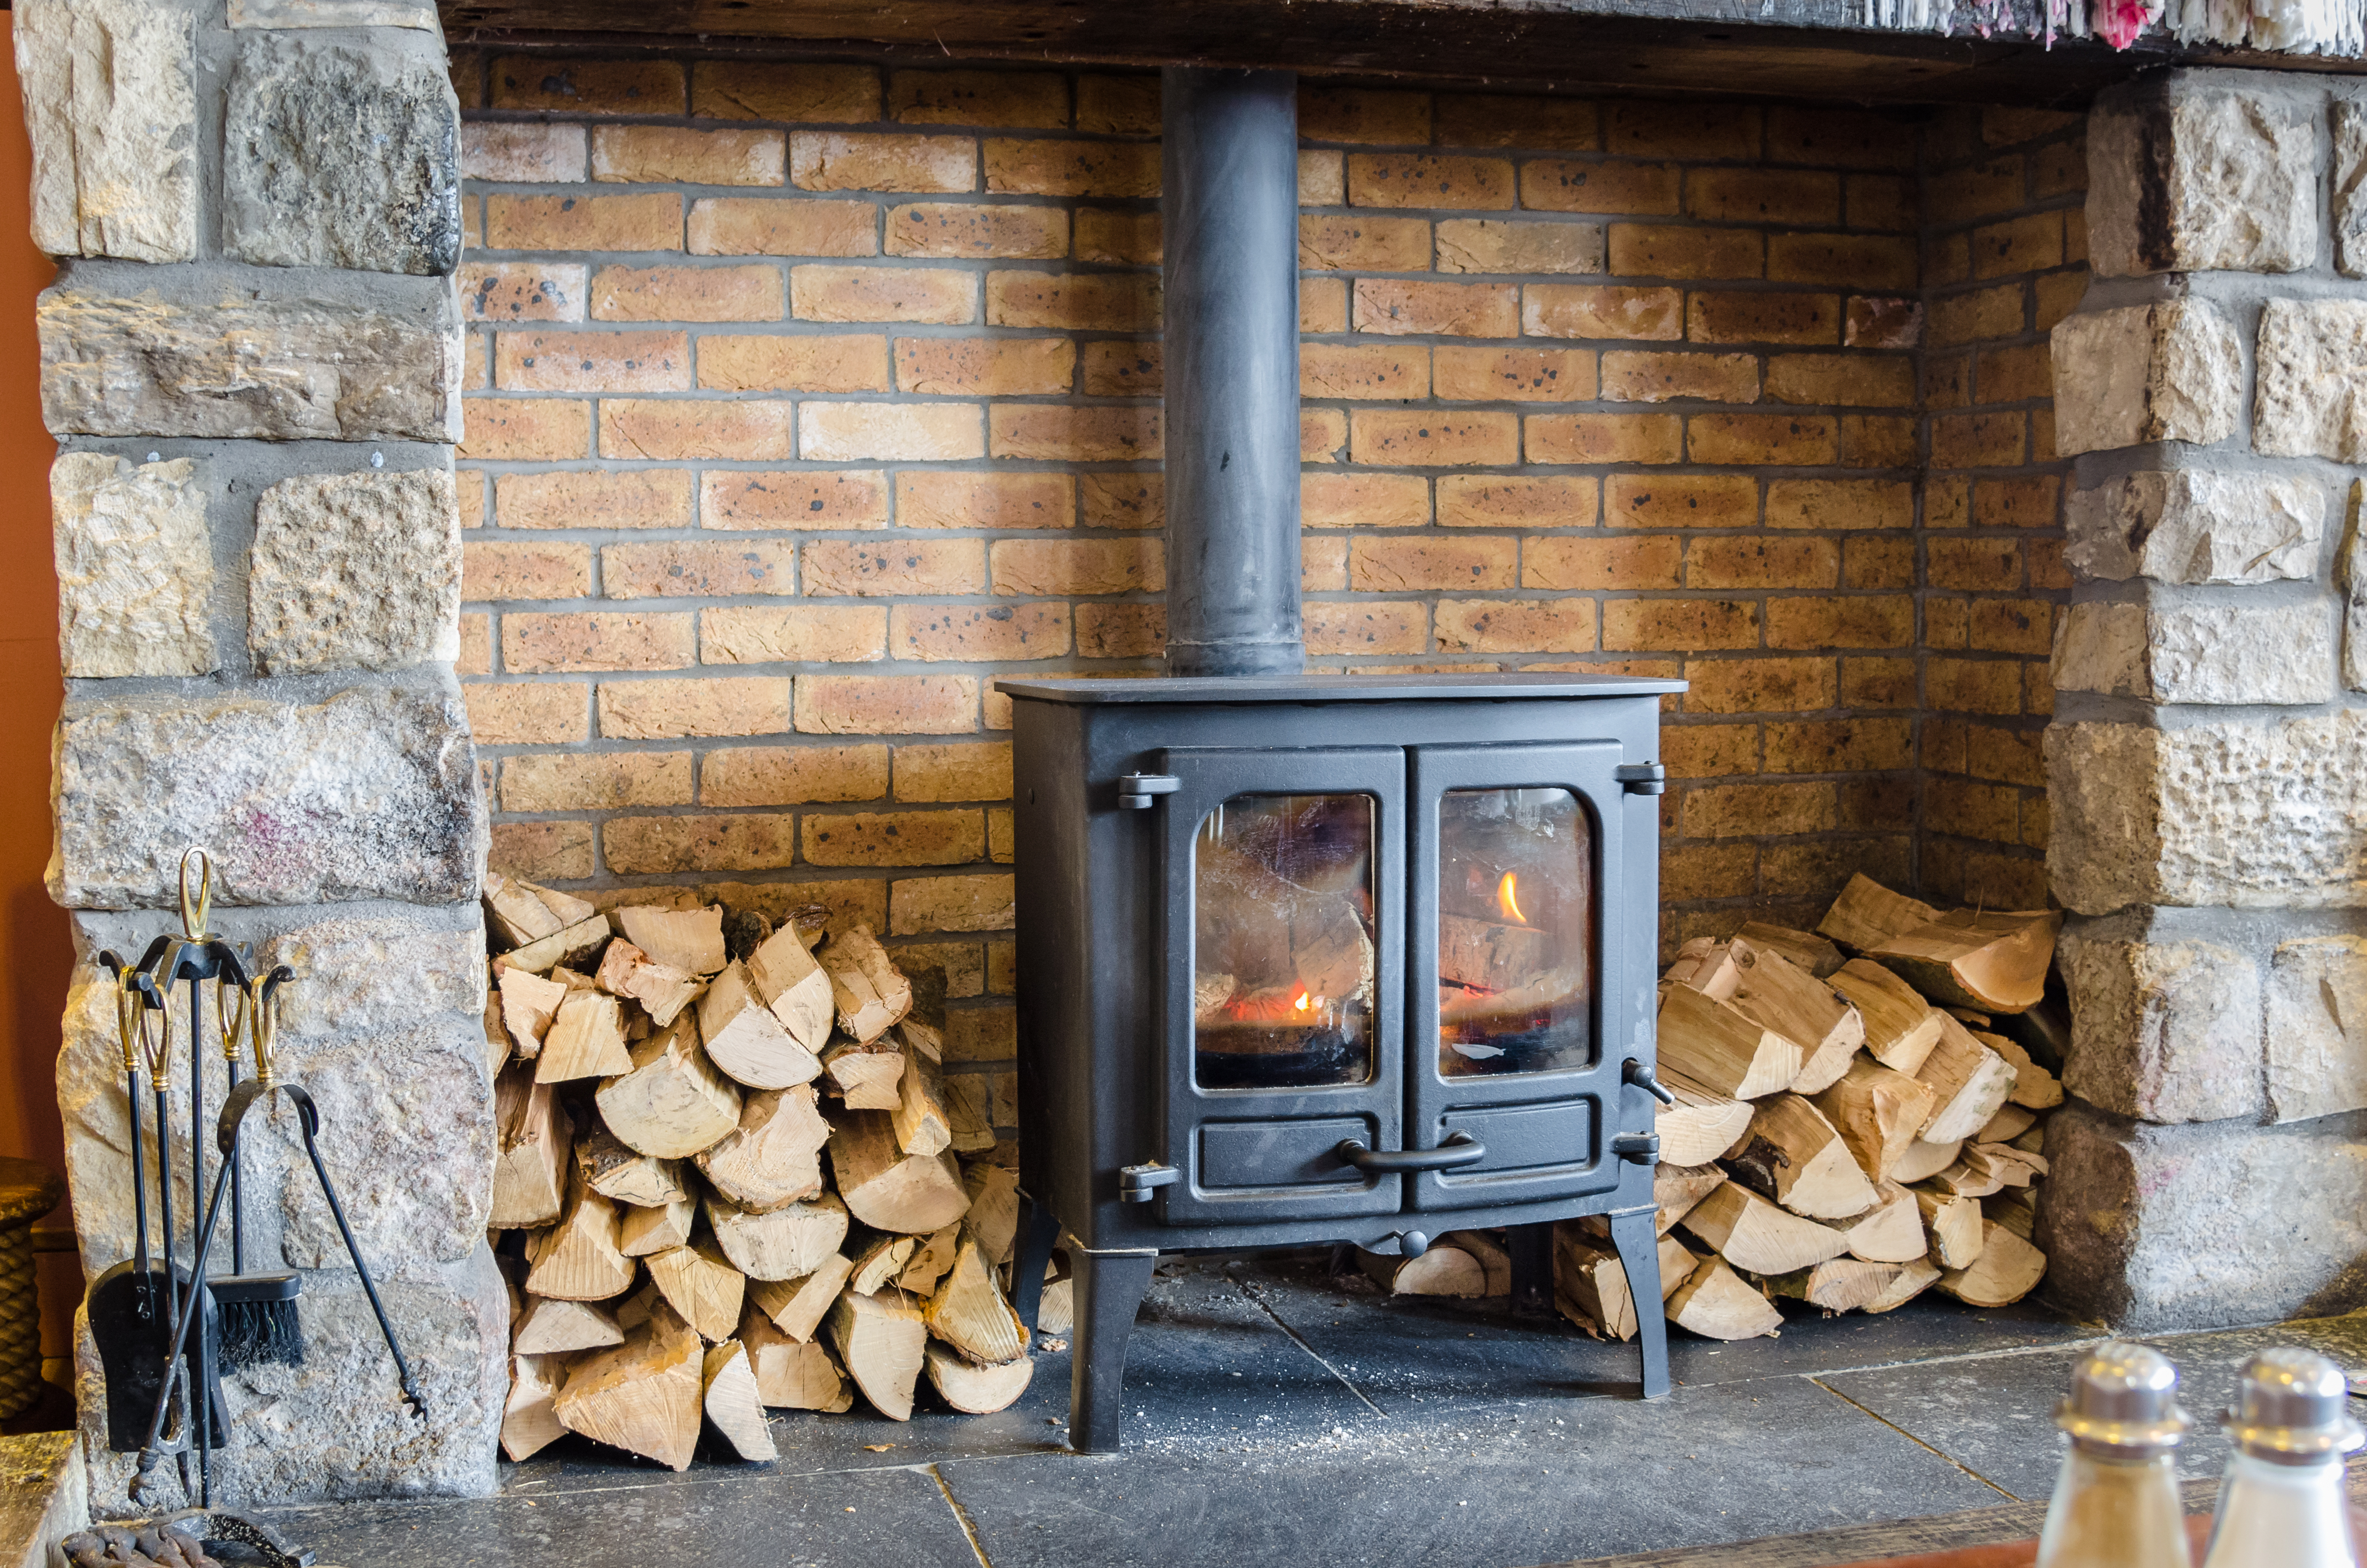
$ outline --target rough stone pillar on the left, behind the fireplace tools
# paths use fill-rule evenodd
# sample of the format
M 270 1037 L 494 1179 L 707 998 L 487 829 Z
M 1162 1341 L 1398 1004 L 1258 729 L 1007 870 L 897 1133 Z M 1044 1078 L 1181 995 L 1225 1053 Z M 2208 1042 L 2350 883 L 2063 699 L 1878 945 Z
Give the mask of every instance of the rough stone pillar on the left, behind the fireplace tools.
M 301 976 L 279 1063 L 324 1113 L 428 1402 L 424 1426 L 400 1405 L 275 1108 L 249 1123 L 246 1265 L 303 1270 L 308 1348 L 227 1376 L 215 1497 L 488 1492 L 507 1296 L 483 1229 L 485 817 L 452 675 L 459 104 L 436 12 L 19 0 L 17 64 L 33 237 L 59 261 L 40 298 L 69 677 L 50 893 L 80 957 L 57 1090 L 83 1265 L 133 1244 L 92 959 L 178 928 L 175 862 L 204 843 L 227 881 L 215 928 Z M 185 1090 L 182 1068 L 182 1246 Z M 95 1509 L 118 1514 L 130 1457 L 107 1450 L 88 1329 L 80 1407 Z

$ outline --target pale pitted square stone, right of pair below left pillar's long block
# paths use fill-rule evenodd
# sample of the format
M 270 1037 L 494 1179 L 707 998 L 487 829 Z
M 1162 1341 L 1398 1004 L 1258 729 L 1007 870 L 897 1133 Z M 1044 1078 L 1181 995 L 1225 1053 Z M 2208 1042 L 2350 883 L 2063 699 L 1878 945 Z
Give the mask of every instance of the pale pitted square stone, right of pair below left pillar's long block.
M 256 502 L 246 647 L 265 675 L 459 656 L 459 507 L 443 469 L 308 474 Z

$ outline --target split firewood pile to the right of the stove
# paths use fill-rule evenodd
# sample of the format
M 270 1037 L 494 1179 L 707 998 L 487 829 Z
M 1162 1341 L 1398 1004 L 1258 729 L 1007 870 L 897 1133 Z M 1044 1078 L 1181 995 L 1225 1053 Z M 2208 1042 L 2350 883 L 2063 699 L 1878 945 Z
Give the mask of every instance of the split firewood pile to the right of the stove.
M 2045 995 L 2055 912 L 1903 898 L 1853 876 L 1808 931 L 1695 938 L 1659 985 L 1659 1286 L 1709 1338 L 1773 1334 L 1773 1298 L 1889 1312 L 1927 1289 L 2002 1307 L 2038 1286 L 2033 1187 L 2062 1085 L 2000 1018 Z M 1636 1334 L 1600 1220 L 1555 1229 L 1579 1326 Z

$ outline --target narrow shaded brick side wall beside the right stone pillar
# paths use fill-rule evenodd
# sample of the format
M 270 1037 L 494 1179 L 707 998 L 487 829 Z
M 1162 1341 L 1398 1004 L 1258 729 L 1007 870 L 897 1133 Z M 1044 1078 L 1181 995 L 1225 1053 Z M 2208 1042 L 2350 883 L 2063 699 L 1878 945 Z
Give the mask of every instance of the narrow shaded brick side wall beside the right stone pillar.
M 1924 128 L 1922 834 L 1931 898 L 2047 905 L 2055 708 L 2069 602 L 2047 332 L 2088 289 L 2083 114 L 1960 109 Z

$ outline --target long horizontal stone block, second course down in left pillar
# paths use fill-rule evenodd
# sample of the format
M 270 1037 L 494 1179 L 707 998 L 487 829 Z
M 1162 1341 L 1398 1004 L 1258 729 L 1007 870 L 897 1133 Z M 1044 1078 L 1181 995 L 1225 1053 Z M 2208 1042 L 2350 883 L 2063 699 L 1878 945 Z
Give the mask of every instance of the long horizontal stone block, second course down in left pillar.
M 459 441 L 459 301 L 391 284 L 71 265 L 38 306 L 43 419 L 59 436 Z

